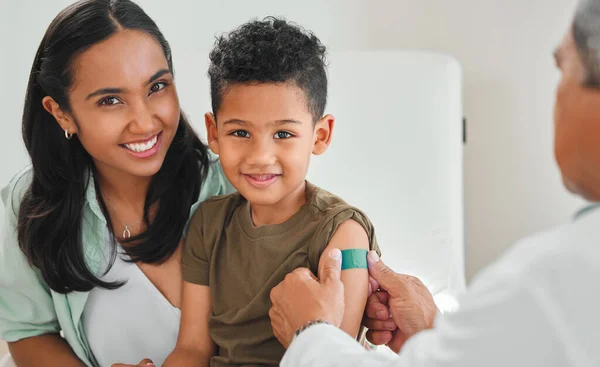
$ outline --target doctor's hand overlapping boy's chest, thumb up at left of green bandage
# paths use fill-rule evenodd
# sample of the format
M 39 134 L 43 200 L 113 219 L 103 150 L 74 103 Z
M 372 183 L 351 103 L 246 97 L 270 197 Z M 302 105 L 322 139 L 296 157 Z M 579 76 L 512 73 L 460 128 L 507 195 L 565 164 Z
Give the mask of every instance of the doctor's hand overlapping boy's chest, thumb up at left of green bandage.
M 319 264 L 319 279 L 306 268 L 286 275 L 271 290 L 269 310 L 273 334 L 287 348 L 296 330 L 310 321 L 324 320 L 339 327 L 344 317 L 344 284 L 340 280 L 342 253 L 332 249 Z

